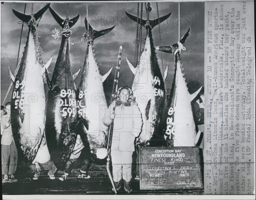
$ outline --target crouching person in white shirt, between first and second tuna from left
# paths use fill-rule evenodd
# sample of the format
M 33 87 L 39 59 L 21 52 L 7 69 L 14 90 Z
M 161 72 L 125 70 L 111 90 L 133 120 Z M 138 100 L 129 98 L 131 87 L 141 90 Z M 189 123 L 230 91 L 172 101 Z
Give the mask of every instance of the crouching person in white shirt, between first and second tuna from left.
M 33 165 L 30 165 L 31 170 L 35 173 L 33 180 L 37 180 L 42 171 L 49 170 L 48 175 L 50 179 L 55 179 L 54 173 L 57 167 L 50 160 L 50 153 L 46 144 L 45 136 L 43 136 L 40 147 L 36 154 Z

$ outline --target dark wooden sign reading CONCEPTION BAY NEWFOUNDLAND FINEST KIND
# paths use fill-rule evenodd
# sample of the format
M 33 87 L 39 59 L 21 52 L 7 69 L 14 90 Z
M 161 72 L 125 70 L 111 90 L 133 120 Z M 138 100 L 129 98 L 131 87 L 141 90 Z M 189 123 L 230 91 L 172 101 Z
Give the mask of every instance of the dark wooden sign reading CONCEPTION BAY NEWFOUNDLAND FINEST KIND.
M 140 189 L 203 188 L 198 147 L 142 147 Z

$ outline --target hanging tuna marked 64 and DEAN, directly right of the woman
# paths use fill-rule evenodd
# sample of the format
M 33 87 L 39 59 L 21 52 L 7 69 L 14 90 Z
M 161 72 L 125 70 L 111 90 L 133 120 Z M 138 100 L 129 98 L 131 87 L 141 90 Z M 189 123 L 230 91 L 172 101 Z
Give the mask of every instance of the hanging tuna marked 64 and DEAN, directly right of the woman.
M 166 20 L 171 13 L 155 20 L 143 20 L 127 12 L 126 15 L 147 29 L 144 50 L 141 53 L 138 66 L 134 68 L 127 59 L 128 65 L 134 74 L 133 95 L 136 97 L 143 118 L 142 132 L 137 143 L 145 145 L 149 144 L 148 141 L 153 136 L 165 105 L 165 85 L 156 57 L 152 29 Z

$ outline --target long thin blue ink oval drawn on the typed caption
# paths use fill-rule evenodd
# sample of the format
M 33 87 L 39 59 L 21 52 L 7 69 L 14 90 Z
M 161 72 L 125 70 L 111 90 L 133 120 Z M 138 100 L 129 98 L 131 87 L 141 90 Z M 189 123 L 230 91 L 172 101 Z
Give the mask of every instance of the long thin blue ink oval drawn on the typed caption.
M 215 92 L 217 91 L 217 90 L 220 90 L 220 88 L 217 88 L 215 91 L 214 91 L 214 94 L 213 94 L 213 96 L 212 96 L 212 100 L 211 100 L 211 106 L 212 106 L 212 101 L 213 101 L 213 98 L 214 98 L 214 95 L 215 95 Z M 222 131 L 223 131 L 223 102 L 222 102 L 222 94 L 221 94 L 221 90 L 220 90 L 220 95 L 221 95 L 221 105 L 222 105 L 222 120 L 221 120 L 221 153 L 220 153 L 220 166 L 221 166 L 221 155 L 222 155 Z M 209 127 L 209 129 L 210 129 L 210 145 L 211 145 L 211 109 L 210 109 L 210 127 Z M 216 174 L 218 175 L 218 180 L 217 180 L 217 182 L 215 181 L 215 178 L 214 178 L 214 172 L 213 172 L 213 166 L 212 166 L 212 164 L 215 164 L 215 163 L 212 163 L 212 155 L 213 155 L 213 153 L 212 153 L 212 147 L 211 147 L 211 168 L 212 168 L 212 175 L 213 175 L 213 180 L 214 180 L 214 183 L 215 184 L 217 184 L 218 182 L 219 182 L 219 178 L 220 178 L 220 168 L 219 168 L 219 172 L 217 171 L 217 168 L 215 169 L 216 170 Z M 217 178 L 217 177 L 216 177 Z

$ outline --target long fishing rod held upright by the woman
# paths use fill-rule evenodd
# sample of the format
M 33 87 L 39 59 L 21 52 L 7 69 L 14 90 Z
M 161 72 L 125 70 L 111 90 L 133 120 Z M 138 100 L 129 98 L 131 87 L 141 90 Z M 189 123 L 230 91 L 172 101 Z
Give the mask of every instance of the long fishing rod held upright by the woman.
M 121 56 L 122 56 L 122 49 L 123 49 L 123 47 L 120 46 L 119 54 L 118 54 L 118 60 L 117 60 L 116 69 L 115 69 L 115 78 L 114 78 L 114 85 L 113 85 L 113 91 L 112 91 L 112 102 L 113 102 L 113 98 L 114 98 L 114 102 L 116 102 L 117 89 L 118 89 L 118 79 L 119 79 L 119 71 L 120 71 Z M 115 88 L 115 94 L 113 94 L 114 93 L 114 88 Z M 112 114 L 115 114 L 115 103 L 114 103 Z M 110 181 L 112 183 L 112 186 L 114 188 L 114 191 L 116 193 L 115 184 L 114 184 L 112 175 L 111 175 L 110 170 L 109 170 L 110 148 L 111 148 L 111 143 L 112 143 L 113 127 L 114 127 L 114 119 L 111 119 L 111 125 L 110 125 L 110 129 L 109 129 L 108 143 L 107 143 L 107 150 L 108 150 L 107 171 L 108 171 L 108 175 L 109 175 Z

